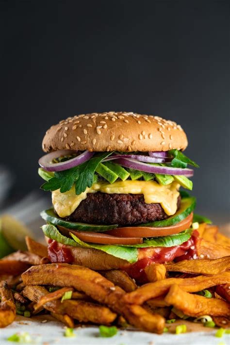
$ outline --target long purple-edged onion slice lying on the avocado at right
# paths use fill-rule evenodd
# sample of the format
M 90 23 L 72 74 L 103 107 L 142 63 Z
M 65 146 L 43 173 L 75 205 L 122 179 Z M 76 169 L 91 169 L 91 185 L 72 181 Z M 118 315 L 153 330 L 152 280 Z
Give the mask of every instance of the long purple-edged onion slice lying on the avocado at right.
M 181 169 L 181 168 L 172 168 L 171 166 L 156 166 L 146 163 L 140 163 L 133 159 L 119 158 L 116 161 L 118 164 L 123 165 L 127 168 L 146 171 L 148 173 L 155 174 L 164 174 L 164 175 L 183 175 L 186 177 L 193 176 L 193 169 Z

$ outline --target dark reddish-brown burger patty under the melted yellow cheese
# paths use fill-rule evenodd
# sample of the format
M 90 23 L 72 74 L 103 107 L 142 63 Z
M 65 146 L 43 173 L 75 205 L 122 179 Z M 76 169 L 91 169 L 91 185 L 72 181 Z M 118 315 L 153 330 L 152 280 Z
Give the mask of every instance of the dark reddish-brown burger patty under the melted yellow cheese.
M 180 207 L 178 197 L 177 207 Z M 88 194 L 76 210 L 65 217 L 73 222 L 121 226 L 164 220 L 168 215 L 159 203 L 147 204 L 143 194 Z

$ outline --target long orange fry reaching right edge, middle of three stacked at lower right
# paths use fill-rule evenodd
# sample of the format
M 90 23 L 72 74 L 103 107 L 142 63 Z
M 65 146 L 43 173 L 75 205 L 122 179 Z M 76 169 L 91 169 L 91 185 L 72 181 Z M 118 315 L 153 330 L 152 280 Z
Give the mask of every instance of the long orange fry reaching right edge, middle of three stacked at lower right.
M 215 285 L 230 283 L 230 272 L 223 272 L 216 276 L 197 276 L 194 278 L 168 278 L 142 285 L 139 289 L 126 294 L 127 303 L 142 304 L 145 301 L 167 293 L 171 285 L 180 285 L 187 292 L 197 292 Z

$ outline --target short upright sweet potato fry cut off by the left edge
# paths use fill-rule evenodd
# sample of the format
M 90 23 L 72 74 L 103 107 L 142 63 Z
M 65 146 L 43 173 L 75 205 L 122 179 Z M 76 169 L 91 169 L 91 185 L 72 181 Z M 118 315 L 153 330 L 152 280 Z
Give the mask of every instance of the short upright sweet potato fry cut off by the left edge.
M 1 284 L 0 296 L 0 328 L 3 328 L 12 324 L 16 317 L 14 298 L 6 282 Z

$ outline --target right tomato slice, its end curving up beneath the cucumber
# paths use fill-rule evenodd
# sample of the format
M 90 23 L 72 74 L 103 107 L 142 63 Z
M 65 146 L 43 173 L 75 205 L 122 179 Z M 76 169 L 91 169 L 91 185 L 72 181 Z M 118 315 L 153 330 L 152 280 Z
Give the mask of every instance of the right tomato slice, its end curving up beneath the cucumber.
M 181 222 L 163 228 L 153 227 L 125 227 L 109 230 L 103 233 L 107 233 L 117 237 L 159 237 L 175 235 L 183 230 L 189 229 L 193 220 L 193 213 L 189 214 Z

